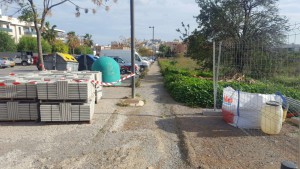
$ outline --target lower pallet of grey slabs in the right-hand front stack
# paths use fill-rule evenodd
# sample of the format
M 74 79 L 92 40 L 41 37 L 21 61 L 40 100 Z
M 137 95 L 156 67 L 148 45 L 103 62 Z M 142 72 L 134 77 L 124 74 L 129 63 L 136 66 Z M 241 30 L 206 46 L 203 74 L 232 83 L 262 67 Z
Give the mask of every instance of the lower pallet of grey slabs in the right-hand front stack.
M 44 103 L 40 105 L 41 122 L 91 121 L 95 103 Z

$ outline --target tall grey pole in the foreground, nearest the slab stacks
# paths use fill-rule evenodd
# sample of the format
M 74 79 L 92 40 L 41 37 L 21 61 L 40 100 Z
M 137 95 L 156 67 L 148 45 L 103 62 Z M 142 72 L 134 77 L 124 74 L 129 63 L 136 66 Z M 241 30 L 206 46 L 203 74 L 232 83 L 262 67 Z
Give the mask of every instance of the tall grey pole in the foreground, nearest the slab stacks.
M 130 0 L 130 24 L 131 24 L 131 72 L 135 73 L 135 43 L 134 43 L 134 0 Z M 135 76 L 131 77 L 131 97 L 135 97 Z

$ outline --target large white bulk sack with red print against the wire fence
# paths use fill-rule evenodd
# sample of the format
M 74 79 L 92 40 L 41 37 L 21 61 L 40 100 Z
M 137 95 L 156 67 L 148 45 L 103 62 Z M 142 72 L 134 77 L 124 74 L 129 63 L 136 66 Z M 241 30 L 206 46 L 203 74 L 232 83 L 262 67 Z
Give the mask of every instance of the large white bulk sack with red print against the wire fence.
M 247 93 L 226 87 L 223 90 L 223 119 L 235 127 L 260 129 L 260 110 L 268 101 L 282 103 L 275 94 Z

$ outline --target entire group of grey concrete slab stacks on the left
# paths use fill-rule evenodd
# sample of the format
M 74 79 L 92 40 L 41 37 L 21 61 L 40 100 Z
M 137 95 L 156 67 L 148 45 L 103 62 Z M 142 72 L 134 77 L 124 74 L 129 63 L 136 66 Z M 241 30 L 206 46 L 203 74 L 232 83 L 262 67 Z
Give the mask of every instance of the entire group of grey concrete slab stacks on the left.
M 0 77 L 0 120 L 37 120 L 40 115 L 44 122 L 91 121 L 102 97 L 101 79 L 101 72 L 91 71 Z

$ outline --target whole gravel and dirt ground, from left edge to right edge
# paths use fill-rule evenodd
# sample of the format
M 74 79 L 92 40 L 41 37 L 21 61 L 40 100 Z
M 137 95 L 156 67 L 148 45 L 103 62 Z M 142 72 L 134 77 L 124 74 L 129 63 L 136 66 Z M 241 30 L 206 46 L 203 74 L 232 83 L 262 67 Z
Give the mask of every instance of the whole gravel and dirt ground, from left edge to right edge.
M 299 128 L 267 136 L 204 116 L 169 96 L 157 63 L 136 89 L 145 106 L 116 106 L 130 93 L 105 87 L 91 124 L 1 122 L 1 168 L 279 168 L 299 157 Z

